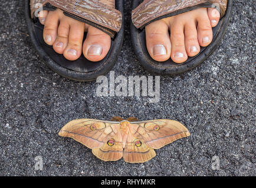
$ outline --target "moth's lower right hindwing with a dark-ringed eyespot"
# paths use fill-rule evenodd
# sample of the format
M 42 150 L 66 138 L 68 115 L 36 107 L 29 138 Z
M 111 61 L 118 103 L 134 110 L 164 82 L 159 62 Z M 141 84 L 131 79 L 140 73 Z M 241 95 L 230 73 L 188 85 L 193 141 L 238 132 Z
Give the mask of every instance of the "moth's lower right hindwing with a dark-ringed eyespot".
M 136 129 L 139 125 L 130 125 Z M 123 150 L 123 160 L 127 163 L 144 163 L 156 156 L 155 150 L 148 147 L 143 140 L 137 139 L 131 132 L 128 133 L 126 146 Z

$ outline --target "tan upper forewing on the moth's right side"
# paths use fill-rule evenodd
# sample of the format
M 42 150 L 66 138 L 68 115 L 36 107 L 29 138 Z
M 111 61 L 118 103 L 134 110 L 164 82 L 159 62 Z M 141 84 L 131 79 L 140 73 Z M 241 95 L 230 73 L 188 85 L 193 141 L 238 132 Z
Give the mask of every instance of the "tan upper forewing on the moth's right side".
M 132 133 L 138 139 L 153 148 L 159 149 L 169 143 L 190 135 L 189 130 L 179 122 L 169 119 L 131 122 Z

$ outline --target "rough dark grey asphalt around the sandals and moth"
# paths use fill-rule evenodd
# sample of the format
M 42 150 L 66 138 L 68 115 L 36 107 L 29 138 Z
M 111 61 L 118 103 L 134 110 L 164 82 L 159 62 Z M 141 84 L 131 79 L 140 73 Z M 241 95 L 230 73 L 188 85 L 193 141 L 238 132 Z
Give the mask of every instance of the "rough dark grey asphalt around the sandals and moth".
M 0 0 L 1 176 L 255 176 L 255 2 L 234 1 L 228 31 L 201 66 L 160 77 L 160 102 L 98 97 L 99 83 L 52 72 L 28 36 L 23 1 Z M 134 55 L 125 2 L 126 37 L 114 68 L 126 78 L 150 75 Z M 109 78 L 109 74 L 107 75 Z M 174 119 L 191 136 L 156 150 L 142 164 L 103 162 L 80 143 L 58 136 L 70 120 L 136 116 Z M 42 170 L 35 170 L 35 157 Z M 220 169 L 212 169 L 218 156 Z M 216 161 L 215 161 L 216 162 Z

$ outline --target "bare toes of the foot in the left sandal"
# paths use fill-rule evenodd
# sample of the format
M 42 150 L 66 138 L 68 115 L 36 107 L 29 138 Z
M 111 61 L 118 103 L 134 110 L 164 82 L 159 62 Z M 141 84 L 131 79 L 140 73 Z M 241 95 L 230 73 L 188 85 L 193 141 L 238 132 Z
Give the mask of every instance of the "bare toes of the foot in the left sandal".
M 100 1 L 114 7 L 114 0 Z M 109 52 L 111 38 L 107 33 L 65 16 L 61 9 L 42 11 L 39 20 L 44 25 L 45 43 L 70 61 L 75 61 L 83 53 L 89 61 L 97 62 Z M 84 32 L 87 36 L 83 42 Z

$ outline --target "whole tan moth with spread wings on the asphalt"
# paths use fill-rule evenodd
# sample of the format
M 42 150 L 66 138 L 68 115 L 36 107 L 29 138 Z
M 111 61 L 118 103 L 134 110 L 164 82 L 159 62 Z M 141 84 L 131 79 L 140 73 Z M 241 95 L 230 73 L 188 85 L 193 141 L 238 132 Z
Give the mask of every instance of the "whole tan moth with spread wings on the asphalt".
M 113 117 L 111 121 L 72 120 L 58 135 L 71 137 L 82 143 L 104 161 L 116 161 L 123 157 L 127 163 L 143 163 L 156 156 L 154 149 L 187 137 L 190 133 L 185 126 L 175 120 L 139 122 L 136 117 L 129 117 L 126 120 Z

